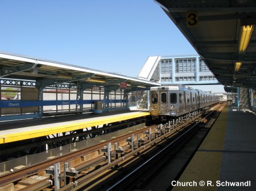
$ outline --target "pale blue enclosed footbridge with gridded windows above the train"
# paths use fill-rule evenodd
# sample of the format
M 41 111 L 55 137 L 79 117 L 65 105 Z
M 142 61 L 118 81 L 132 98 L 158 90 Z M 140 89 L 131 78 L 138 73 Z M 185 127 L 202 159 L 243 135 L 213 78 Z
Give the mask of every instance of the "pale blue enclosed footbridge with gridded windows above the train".
M 198 55 L 150 56 L 138 78 L 165 84 L 220 84 Z

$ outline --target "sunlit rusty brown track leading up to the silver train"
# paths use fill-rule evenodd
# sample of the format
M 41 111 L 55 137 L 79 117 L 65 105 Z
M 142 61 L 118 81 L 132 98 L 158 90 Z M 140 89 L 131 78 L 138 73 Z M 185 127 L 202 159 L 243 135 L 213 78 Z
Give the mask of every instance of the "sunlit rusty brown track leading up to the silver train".
M 92 184 L 88 183 L 90 180 L 96 179 L 97 176 L 100 176 L 105 171 L 115 171 L 116 168 L 113 169 L 112 167 L 117 167 L 117 165 L 124 164 L 126 161 L 129 163 L 129 159 L 131 157 L 133 158 L 135 154 L 151 149 L 152 145 L 163 142 L 166 138 L 175 135 L 185 126 L 191 125 L 195 121 L 197 121 L 197 123 L 204 121 L 205 118 L 201 117 L 201 113 L 196 113 L 193 118 L 186 118 L 178 124 L 171 124 L 169 122 L 169 124 L 164 125 L 148 126 L 138 131 L 122 135 L 121 137 L 113 138 L 108 141 L 108 144 L 106 144 L 106 142 L 100 143 L 96 146 L 74 151 L 47 160 L 46 162 L 7 173 L 0 176 L 0 188 L 1 186 L 9 186 L 11 184 L 19 187 L 19 190 L 43 190 L 44 188 L 51 188 L 52 186 L 55 188 L 55 180 L 59 178 L 60 185 L 57 185 L 60 187 L 59 190 L 82 190 L 86 185 Z M 180 138 L 181 137 L 177 137 L 176 139 Z M 109 145 L 109 147 L 106 147 L 106 145 Z M 174 143 L 172 143 L 172 145 L 174 145 Z M 166 149 L 167 148 L 164 148 L 164 150 Z M 162 152 L 163 151 L 161 151 L 161 153 Z M 154 155 L 154 157 L 156 156 Z M 146 164 L 152 160 L 154 160 L 154 158 L 148 159 Z M 64 164 L 67 164 L 67 162 L 69 162 L 70 165 L 68 172 L 72 171 L 74 176 L 65 177 L 63 175 Z M 56 174 L 53 176 L 49 173 L 49 168 L 55 167 L 55 164 L 60 164 L 59 177 L 57 177 Z M 143 166 L 138 168 L 141 169 Z M 48 171 L 46 171 L 46 169 L 48 169 Z M 138 171 L 134 171 L 133 174 L 137 172 Z M 131 175 L 128 177 L 130 176 Z M 37 181 L 35 181 L 36 178 L 38 178 Z M 27 183 L 27 185 L 25 185 L 24 182 L 26 182 L 27 179 L 31 180 L 31 184 Z M 34 180 L 34 182 L 32 180 Z M 120 183 L 117 185 L 119 184 Z M 110 188 L 110 190 L 113 189 L 115 189 L 115 187 Z

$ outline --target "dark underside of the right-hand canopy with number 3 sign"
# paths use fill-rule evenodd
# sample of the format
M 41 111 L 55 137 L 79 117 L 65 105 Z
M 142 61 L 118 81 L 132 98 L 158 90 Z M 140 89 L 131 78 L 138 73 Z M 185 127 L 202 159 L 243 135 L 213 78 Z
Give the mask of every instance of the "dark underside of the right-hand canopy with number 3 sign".
M 156 0 L 225 86 L 256 89 L 256 2 Z M 175 35 L 170 32 L 170 35 Z

